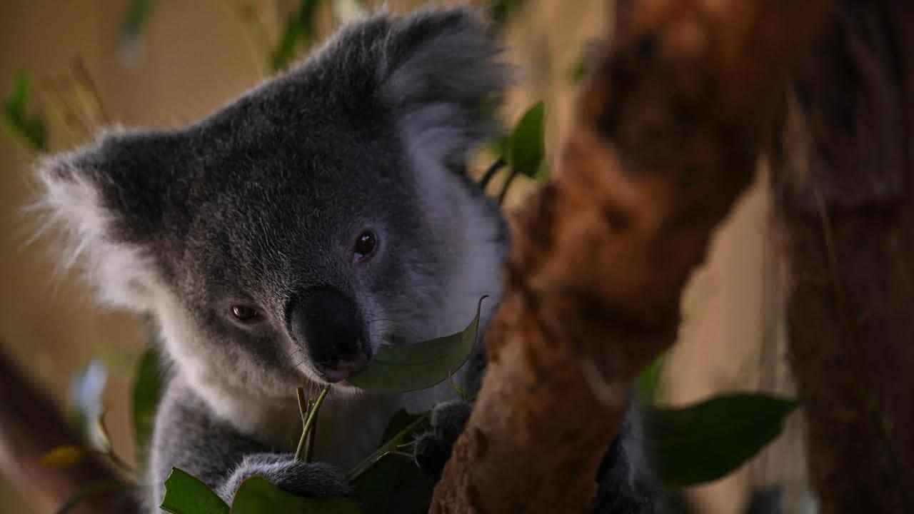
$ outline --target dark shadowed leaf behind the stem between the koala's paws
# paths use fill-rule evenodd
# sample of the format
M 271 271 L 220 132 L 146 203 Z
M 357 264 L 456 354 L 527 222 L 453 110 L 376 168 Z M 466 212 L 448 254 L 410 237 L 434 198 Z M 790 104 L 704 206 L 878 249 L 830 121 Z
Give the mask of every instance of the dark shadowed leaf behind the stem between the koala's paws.
M 425 425 L 427 415 L 400 410 L 390 419 L 382 449 L 395 451 L 407 444 Z M 353 481 L 356 498 L 372 514 L 425 514 L 429 511 L 435 481 L 403 455 L 385 455 Z

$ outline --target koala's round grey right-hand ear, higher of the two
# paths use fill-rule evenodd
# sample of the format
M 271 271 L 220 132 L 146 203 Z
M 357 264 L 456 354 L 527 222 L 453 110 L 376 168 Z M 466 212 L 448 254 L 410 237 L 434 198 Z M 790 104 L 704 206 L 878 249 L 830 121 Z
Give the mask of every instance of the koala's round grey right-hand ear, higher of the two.
M 430 10 L 391 24 L 381 94 L 411 153 L 459 166 L 494 134 L 509 75 L 501 53 L 491 27 L 471 9 Z

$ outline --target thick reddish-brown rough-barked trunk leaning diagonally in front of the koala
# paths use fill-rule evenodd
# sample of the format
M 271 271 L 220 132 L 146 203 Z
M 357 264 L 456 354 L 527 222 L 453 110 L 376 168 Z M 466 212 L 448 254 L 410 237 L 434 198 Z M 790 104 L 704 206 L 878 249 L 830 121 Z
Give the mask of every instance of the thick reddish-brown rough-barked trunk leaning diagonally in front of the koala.
M 515 220 L 473 415 L 431 512 L 586 512 L 633 375 L 749 183 L 825 1 L 624 1 L 556 179 Z

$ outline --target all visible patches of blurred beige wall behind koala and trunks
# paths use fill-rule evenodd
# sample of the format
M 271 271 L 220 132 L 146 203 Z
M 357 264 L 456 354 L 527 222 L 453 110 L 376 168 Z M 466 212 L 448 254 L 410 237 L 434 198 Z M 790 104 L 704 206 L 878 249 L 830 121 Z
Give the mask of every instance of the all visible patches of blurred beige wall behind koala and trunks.
M 401 9 L 415 3 L 389 4 Z M 512 95 L 506 117 L 514 120 L 529 103 L 545 99 L 548 146 L 555 149 L 569 125 L 571 70 L 584 41 L 600 33 L 607 19 L 605 3 L 532 4 L 509 30 L 524 88 Z M 125 0 L 0 2 L 0 91 L 8 91 L 16 70 L 32 70 L 38 78 L 64 76 L 81 58 L 110 122 L 173 126 L 197 119 L 259 80 L 262 61 L 255 58 L 262 52 L 257 38 L 245 30 L 226 0 L 159 0 L 144 59 L 136 67 L 123 67 L 117 30 L 126 5 Z M 54 112 L 47 114 L 56 119 Z M 80 141 L 78 131 L 70 133 L 59 122 L 51 128 L 55 150 Z M 26 244 L 35 229 L 35 220 L 22 213 L 33 198 L 34 158 L 0 137 L 0 339 L 4 350 L 62 403 L 75 369 L 93 355 L 134 355 L 143 344 L 143 329 L 136 316 L 94 307 L 73 273 L 55 273 L 47 241 Z M 780 359 L 780 347 L 771 336 L 776 334 L 771 316 L 765 314 L 776 312 L 777 306 L 771 303 L 776 288 L 772 292 L 767 285 L 774 284 L 771 270 L 776 266 L 763 259 L 771 254 L 762 242 L 768 230 L 767 202 L 764 187 L 746 198 L 717 241 L 711 266 L 695 281 L 685 309 L 684 340 L 671 362 L 675 372 L 667 380 L 670 401 L 688 402 L 722 389 L 773 387 L 774 382 L 781 387 L 784 382 L 762 380 L 782 369 L 771 365 Z M 760 353 L 760 348 L 769 349 Z M 775 371 L 768 375 L 760 371 L 771 369 Z M 113 373 L 114 387 L 106 402 L 114 444 L 122 455 L 132 455 L 126 397 L 130 369 L 115 368 Z M 733 512 L 733 498 L 750 479 L 747 470 L 698 494 L 704 495 L 707 511 Z M 23 512 L 14 498 L 0 492 L 0 512 Z

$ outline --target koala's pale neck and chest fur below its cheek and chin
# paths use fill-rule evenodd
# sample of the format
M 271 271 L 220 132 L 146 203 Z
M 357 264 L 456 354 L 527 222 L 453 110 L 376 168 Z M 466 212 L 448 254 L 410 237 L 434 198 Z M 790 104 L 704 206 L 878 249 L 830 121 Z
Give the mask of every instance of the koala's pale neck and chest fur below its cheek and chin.
M 156 312 L 163 344 L 172 357 L 175 372 L 215 416 L 279 452 L 292 452 L 302 434 L 302 421 L 295 391 L 283 387 L 273 370 L 236 367 L 226 376 L 233 359 L 230 348 L 214 353 L 193 326 L 186 310 L 165 288 L 157 289 Z M 488 311 L 488 309 L 486 309 Z M 488 318 L 489 312 L 484 313 Z M 462 371 L 455 380 L 462 381 Z M 302 385 L 316 397 L 320 386 L 302 378 Z M 240 384 L 244 384 L 243 386 Z M 449 382 L 425 391 L 404 394 L 356 391 L 351 387 L 332 390 L 319 412 L 314 458 L 340 466 L 355 466 L 383 443 L 381 436 L 393 415 L 429 410 L 454 396 Z

